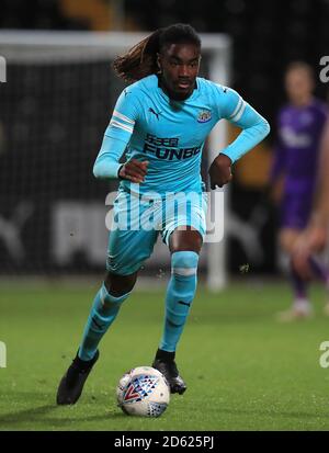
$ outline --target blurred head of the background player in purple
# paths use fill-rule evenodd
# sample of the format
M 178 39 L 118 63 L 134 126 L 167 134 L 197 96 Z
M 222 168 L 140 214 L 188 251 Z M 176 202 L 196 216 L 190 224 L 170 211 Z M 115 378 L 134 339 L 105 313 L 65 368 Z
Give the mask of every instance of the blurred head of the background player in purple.
M 313 80 L 305 69 L 292 69 L 285 76 L 285 90 L 293 103 L 300 103 L 311 95 Z

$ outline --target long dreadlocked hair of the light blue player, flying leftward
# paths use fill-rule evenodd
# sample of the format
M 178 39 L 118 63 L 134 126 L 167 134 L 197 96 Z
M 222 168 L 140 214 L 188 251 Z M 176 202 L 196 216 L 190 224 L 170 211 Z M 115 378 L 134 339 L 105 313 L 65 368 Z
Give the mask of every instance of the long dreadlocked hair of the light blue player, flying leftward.
M 195 30 L 188 24 L 174 24 L 158 29 L 125 55 L 113 61 L 114 71 L 127 82 L 134 82 L 159 71 L 157 54 L 171 44 L 195 44 L 201 47 L 201 39 Z

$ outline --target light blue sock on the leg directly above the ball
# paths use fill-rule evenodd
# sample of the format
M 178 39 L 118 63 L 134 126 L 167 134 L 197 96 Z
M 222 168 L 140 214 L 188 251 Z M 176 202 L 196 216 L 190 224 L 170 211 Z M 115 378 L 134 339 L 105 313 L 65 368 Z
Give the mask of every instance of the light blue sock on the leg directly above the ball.
M 196 290 L 198 254 L 177 251 L 171 256 L 171 279 L 166 296 L 164 331 L 159 348 L 174 352 Z

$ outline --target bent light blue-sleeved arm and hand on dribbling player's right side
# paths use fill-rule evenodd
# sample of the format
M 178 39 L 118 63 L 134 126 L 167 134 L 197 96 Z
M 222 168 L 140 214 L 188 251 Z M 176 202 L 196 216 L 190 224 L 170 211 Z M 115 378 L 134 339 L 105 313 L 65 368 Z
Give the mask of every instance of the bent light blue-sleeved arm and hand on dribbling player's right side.
M 269 133 L 268 121 L 235 91 L 218 88 L 219 117 L 228 120 L 242 131 L 238 137 L 222 149 L 209 168 L 211 186 L 223 186 L 231 180 L 231 166 L 258 145 Z

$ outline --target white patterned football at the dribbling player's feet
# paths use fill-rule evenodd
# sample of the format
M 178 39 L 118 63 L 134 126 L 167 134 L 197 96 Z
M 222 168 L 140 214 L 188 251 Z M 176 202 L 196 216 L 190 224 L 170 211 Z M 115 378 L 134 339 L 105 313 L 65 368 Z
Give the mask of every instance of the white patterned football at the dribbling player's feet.
M 170 400 L 162 373 L 151 366 L 137 366 L 125 373 L 116 386 L 117 406 L 129 416 L 160 417 Z

